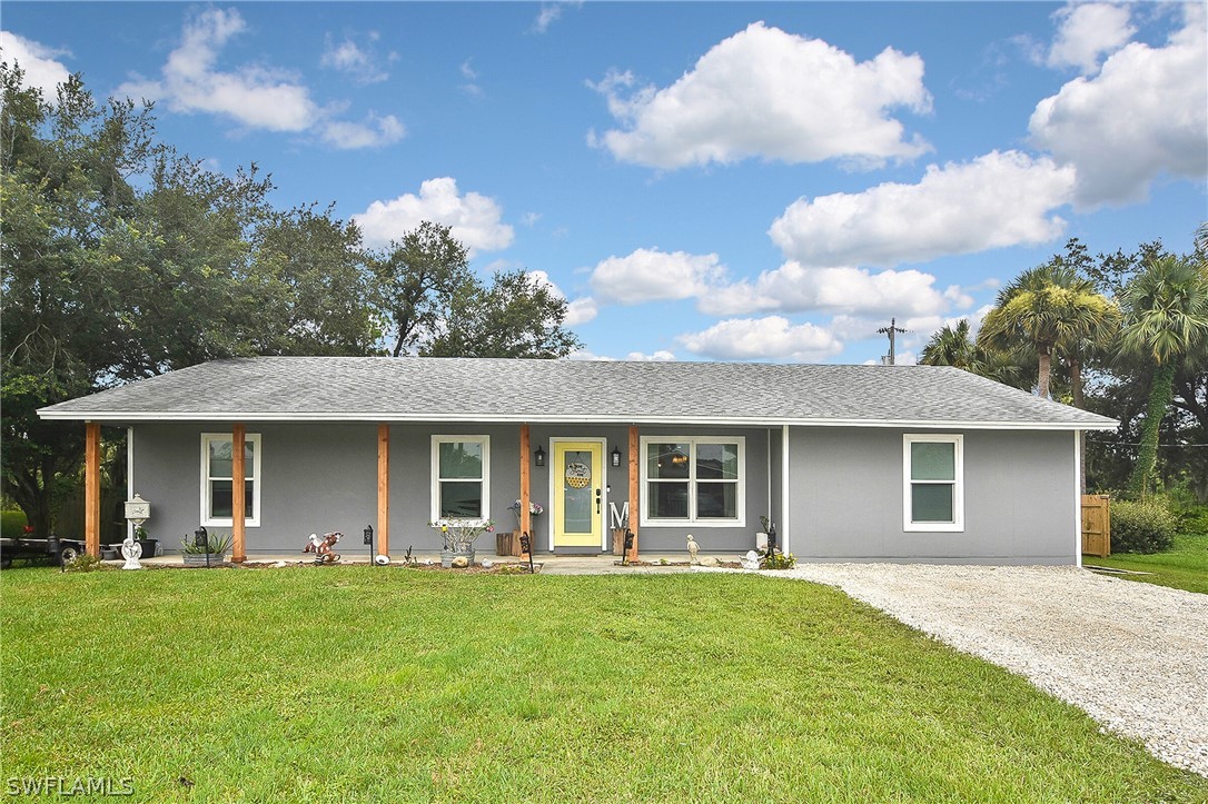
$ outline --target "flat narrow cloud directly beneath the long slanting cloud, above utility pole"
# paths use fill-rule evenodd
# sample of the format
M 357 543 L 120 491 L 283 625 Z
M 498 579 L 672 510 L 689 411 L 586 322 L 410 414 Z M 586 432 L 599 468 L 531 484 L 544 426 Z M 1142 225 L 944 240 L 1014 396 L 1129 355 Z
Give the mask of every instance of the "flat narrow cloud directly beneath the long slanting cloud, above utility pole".
M 714 289 L 701 297 L 699 308 L 715 315 L 773 310 L 930 315 L 960 301 L 959 289 L 941 293 L 934 284 L 935 276 L 919 270 L 871 273 L 863 268 L 807 268 L 789 261 L 760 273 L 755 281 Z

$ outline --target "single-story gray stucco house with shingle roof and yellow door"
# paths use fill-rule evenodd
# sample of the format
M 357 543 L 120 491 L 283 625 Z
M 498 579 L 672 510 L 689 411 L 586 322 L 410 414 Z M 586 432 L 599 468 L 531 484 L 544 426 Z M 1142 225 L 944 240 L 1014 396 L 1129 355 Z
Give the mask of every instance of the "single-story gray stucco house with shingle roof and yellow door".
M 524 500 L 535 552 L 625 517 L 643 552 L 745 552 L 766 515 L 800 560 L 1076 564 L 1079 436 L 1116 426 L 947 367 L 417 357 L 225 360 L 41 415 L 126 427 L 151 535 L 228 528 L 237 560 L 370 524 L 431 552 L 430 520 Z

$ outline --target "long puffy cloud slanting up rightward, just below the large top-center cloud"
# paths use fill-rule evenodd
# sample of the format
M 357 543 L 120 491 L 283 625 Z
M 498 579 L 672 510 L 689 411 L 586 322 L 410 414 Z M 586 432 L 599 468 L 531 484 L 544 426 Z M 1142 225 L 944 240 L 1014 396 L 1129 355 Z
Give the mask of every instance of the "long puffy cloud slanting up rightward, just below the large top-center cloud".
M 808 267 L 894 266 L 1018 244 L 1047 243 L 1065 222 L 1074 169 L 1017 151 L 929 165 L 917 185 L 797 199 L 768 231 Z

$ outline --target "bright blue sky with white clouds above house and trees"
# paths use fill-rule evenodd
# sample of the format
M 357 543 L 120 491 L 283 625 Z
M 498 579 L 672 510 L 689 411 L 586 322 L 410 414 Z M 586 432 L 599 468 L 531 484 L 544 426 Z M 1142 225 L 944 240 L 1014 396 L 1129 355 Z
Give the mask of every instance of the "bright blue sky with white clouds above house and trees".
M 911 362 L 1062 250 L 1208 219 L 1203 4 L 5 2 L 2 58 L 156 101 L 370 245 L 541 272 L 580 356 Z

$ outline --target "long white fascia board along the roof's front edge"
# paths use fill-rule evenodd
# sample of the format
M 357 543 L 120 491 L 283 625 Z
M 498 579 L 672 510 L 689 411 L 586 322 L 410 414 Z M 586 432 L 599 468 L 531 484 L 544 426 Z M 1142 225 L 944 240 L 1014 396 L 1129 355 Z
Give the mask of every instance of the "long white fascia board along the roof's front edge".
M 960 420 L 919 420 L 919 419 L 809 419 L 809 418 L 755 418 L 755 416 L 626 416 L 582 414 L 567 415 L 471 415 L 455 413 L 429 413 L 407 415 L 402 413 L 232 413 L 223 412 L 185 412 L 185 413 L 117 413 L 111 410 L 39 410 L 39 416 L 48 420 L 65 421 L 344 421 L 344 423 L 475 423 L 475 424 L 638 424 L 638 425 L 707 425 L 707 426 L 808 426 L 808 427 L 920 427 L 925 430 L 1115 430 L 1117 421 L 1110 423 L 1074 423 L 1074 421 L 960 421 Z

